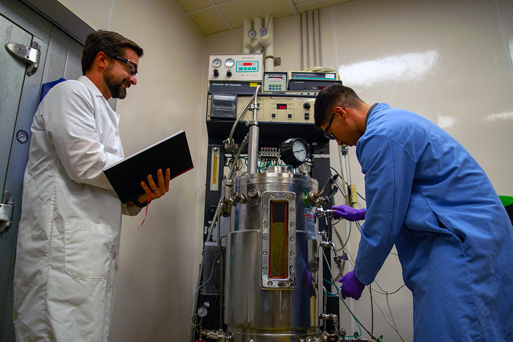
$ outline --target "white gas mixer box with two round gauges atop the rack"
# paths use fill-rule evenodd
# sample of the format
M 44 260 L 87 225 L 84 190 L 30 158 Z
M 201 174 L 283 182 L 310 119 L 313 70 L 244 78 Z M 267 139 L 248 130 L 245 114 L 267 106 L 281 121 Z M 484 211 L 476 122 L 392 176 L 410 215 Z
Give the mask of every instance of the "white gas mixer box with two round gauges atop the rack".
M 262 53 L 210 54 L 209 81 L 255 81 L 264 78 L 264 55 Z

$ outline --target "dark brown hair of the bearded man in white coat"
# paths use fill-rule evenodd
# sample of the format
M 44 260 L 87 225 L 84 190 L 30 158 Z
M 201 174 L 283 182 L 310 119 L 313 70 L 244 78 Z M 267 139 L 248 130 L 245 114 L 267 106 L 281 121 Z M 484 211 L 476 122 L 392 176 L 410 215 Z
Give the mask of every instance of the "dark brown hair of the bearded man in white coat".
M 102 30 L 89 33 L 82 51 L 82 74 L 85 75 L 91 68 L 98 52 L 112 58 L 123 55 L 126 48 L 133 49 L 139 57 L 143 55 L 143 49 L 139 45 L 119 33 Z

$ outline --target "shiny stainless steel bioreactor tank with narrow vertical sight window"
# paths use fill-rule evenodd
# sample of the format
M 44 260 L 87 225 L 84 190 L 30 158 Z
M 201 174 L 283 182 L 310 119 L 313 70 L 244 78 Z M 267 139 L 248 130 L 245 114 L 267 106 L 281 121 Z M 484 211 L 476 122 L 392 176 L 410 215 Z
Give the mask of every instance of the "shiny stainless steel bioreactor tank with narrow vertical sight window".
M 315 283 L 322 279 L 317 229 L 302 196 L 317 189 L 317 180 L 284 167 L 235 178 L 243 203 L 232 208 L 225 278 L 233 342 L 299 341 L 319 332 L 311 280 L 312 273 Z

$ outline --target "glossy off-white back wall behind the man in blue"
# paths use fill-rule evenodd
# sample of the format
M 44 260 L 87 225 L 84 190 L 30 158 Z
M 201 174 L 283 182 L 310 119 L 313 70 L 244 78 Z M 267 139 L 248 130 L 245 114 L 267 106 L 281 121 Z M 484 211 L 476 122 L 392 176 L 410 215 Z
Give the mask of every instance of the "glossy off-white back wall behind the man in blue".
M 385 102 L 408 109 L 444 128 L 477 159 L 499 194 L 512 195 L 512 15 L 513 4 L 506 0 L 363 0 L 325 8 L 321 10 L 323 66 L 339 71 L 344 85 L 354 88 L 368 104 Z M 309 26 L 311 30 L 311 22 Z M 282 57 L 276 71 L 301 70 L 300 34 L 299 15 L 274 20 L 275 55 Z M 311 32 L 309 39 L 313 66 Z M 207 36 L 205 58 L 209 53 L 240 53 L 241 45 L 241 29 Z M 319 56 L 317 61 L 320 64 Z M 306 68 L 306 54 L 304 63 Z M 340 171 L 336 151 L 332 142 L 331 165 Z M 354 148 L 349 157 L 352 183 L 365 197 Z M 360 201 L 357 207 L 365 207 Z M 337 195 L 336 202 L 342 203 L 342 197 Z M 344 227 L 339 231 L 347 234 Z M 359 239 L 353 225 L 349 242 L 353 257 Z M 377 282 L 387 292 L 404 284 L 396 255 L 389 255 Z M 376 285 L 373 289 L 379 290 Z M 392 323 L 386 296 L 376 292 L 373 296 Z M 399 332 L 411 340 L 410 291 L 402 288 L 388 299 Z M 352 305 L 370 330 L 369 291 Z M 373 310 L 374 335 L 399 340 L 376 305 Z M 345 307 L 341 327 L 351 334 L 358 331 Z

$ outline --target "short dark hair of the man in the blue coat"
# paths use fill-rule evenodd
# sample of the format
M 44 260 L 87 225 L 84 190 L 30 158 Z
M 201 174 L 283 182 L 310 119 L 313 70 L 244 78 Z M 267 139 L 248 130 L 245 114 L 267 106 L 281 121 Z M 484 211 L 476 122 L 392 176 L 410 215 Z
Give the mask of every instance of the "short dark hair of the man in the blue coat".
M 362 100 L 349 87 L 332 85 L 324 88 L 315 98 L 313 122 L 314 127 L 321 129 L 321 125 L 328 122 L 335 107 L 358 108 Z

